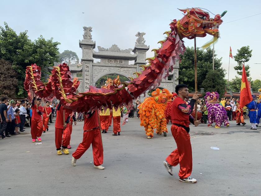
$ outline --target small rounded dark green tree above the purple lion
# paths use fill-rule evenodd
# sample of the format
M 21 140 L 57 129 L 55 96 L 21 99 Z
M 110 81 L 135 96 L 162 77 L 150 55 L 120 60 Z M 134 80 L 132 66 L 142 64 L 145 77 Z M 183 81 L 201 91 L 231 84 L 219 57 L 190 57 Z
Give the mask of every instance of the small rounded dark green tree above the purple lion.
M 202 82 L 204 91 L 218 92 L 219 96 L 225 94 L 226 80 L 218 70 L 209 70 L 205 80 Z

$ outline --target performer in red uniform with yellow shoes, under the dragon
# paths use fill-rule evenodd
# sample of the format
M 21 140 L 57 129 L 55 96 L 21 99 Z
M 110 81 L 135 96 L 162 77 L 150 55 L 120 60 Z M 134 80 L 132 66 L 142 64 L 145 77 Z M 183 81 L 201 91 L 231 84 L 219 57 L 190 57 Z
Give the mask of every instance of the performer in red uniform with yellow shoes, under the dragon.
M 60 102 L 56 107 L 56 120 L 54 125 L 57 155 L 62 155 L 62 152 L 66 155 L 69 154 L 69 150 L 67 149 L 71 139 L 69 114 L 71 114 L 69 110 L 64 109 L 62 103 Z

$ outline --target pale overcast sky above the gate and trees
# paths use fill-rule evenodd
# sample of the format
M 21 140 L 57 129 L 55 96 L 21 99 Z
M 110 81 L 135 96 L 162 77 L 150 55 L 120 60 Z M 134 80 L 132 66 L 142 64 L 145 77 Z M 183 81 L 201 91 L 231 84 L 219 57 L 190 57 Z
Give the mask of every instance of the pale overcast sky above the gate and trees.
M 202 7 L 213 14 L 221 14 L 227 10 L 227 14 L 222 18 L 223 24 L 219 27 L 221 38 L 215 44 L 216 54 L 218 58 L 222 57 L 223 68 L 228 71 L 229 46 L 234 55 L 237 49 L 249 45 L 253 52 L 252 58 L 246 64 L 250 65 L 250 76 L 255 80 L 261 79 L 261 64 L 254 64 L 261 63 L 260 5 L 258 0 L 12 0 L 1 2 L 0 26 L 4 26 L 5 21 L 17 34 L 28 30 L 27 35 L 31 40 L 40 35 L 45 39 L 53 37 L 53 41 L 61 43 L 58 46 L 60 53 L 72 50 L 79 58 L 82 58 L 79 40 L 83 39 L 83 26 L 93 27 L 95 51 L 98 51 L 97 46 L 109 48 L 112 44 L 117 44 L 121 49 L 133 49 L 137 39 L 135 34 L 138 31 L 145 32 L 145 44 L 150 45 L 147 57 L 152 57 L 153 53 L 150 51 L 160 46 L 157 43 L 164 39 L 163 33 L 170 30 L 169 23 L 183 17 L 177 8 Z M 210 16 L 214 17 L 213 14 Z M 241 18 L 245 19 L 238 20 Z M 211 39 L 210 35 L 198 38 L 197 47 Z M 186 47 L 194 46 L 194 40 L 185 38 L 184 41 Z M 94 62 L 96 61 L 99 59 Z M 230 80 L 237 75 L 234 66 L 236 61 L 230 59 Z

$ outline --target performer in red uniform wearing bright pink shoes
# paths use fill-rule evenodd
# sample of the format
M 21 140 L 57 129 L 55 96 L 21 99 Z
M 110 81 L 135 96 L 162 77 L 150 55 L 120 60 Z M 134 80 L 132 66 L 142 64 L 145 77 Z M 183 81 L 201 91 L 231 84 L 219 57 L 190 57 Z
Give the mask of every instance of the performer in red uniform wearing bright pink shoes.
M 37 98 L 36 104 L 34 104 L 35 98 L 36 95 L 34 95 L 32 100 L 31 136 L 32 142 L 35 142 L 36 138 L 38 142 L 41 142 L 42 139 L 40 137 L 43 133 L 43 121 L 41 115 L 43 114 L 43 107 L 40 106 L 42 103 L 40 98 Z

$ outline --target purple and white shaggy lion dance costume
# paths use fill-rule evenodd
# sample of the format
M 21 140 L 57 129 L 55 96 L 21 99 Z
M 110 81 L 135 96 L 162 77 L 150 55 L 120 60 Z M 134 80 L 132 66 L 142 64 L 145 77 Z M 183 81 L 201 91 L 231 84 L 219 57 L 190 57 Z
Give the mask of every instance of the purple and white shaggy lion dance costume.
M 218 104 L 218 93 L 207 92 L 204 98 L 206 99 L 208 110 L 208 126 L 212 126 L 212 123 L 216 123 L 215 128 L 220 128 L 220 125 L 224 122 L 224 125 L 229 127 L 227 112 L 222 105 Z

